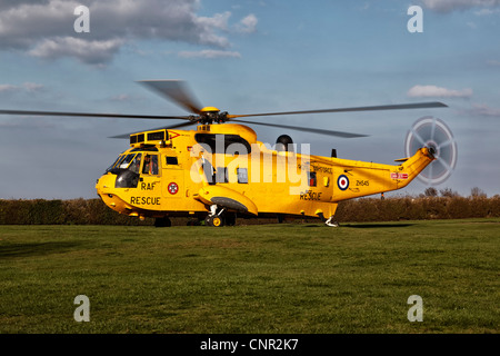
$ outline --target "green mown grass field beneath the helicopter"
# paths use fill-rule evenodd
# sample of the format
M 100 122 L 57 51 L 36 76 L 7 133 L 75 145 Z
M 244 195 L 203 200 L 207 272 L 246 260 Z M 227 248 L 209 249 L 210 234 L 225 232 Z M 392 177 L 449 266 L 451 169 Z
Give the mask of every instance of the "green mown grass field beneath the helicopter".
M 500 219 L 0 226 L 0 333 L 499 333 L 499 277 Z

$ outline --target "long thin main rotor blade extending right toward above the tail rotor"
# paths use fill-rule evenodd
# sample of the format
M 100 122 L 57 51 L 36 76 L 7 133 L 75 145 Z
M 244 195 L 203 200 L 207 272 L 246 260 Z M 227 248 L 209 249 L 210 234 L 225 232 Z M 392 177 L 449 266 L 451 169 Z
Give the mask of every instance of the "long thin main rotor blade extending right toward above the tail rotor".
M 448 107 L 448 106 L 442 103 L 442 102 L 433 101 L 433 102 L 382 105 L 382 106 L 373 106 L 373 107 L 323 109 L 323 110 L 264 112 L 264 113 L 249 113 L 249 115 L 228 115 L 228 118 L 229 119 L 234 119 L 234 118 L 248 118 L 248 117 L 254 117 L 254 116 L 273 116 L 273 115 L 349 112 L 349 111 L 376 111 L 376 110 L 401 110 L 401 109 L 427 109 L 427 108 L 446 108 L 446 107 Z

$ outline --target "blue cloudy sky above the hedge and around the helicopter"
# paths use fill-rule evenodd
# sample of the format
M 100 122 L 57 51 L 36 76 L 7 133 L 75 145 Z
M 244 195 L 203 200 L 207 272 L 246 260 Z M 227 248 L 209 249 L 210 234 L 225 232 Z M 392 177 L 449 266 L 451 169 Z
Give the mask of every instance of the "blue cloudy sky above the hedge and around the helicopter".
M 73 10 L 90 10 L 77 33 Z M 410 33 L 410 6 L 423 32 Z M 442 101 L 446 109 L 256 119 L 370 135 L 342 139 L 254 126 L 311 152 L 392 164 L 424 116 L 458 144 L 438 189 L 500 194 L 500 1 L 62 1 L 0 3 L 0 109 L 184 115 L 143 79 L 187 80 L 230 113 Z M 169 125 L 171 122 L 166 122 Z M 152 120 L 0 117 L 0 198 L 93 198 L 94 182 L 128 147 L 109 136 Z M 413 181 L 396 194 L 420 194 Z

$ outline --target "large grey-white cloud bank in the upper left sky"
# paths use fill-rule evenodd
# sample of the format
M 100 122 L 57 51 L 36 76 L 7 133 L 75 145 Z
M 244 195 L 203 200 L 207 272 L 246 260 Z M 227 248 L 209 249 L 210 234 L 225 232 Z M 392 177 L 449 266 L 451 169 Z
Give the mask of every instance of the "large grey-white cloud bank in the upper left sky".
M 74 8 L 90 10 L 90 32 L 77 33 Z M 123 44 L 158 39 L 208 46 L 231 46 L 229 36 L 256 30 L 247 16 L 230 26 L 230 11 L 198 16 L 201 0 L 7 0 L 0 6 L 0 49 L 40 58 L 77 58 L 84 63 L 110 61 Z

